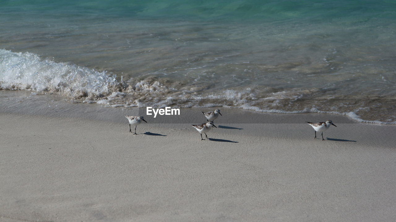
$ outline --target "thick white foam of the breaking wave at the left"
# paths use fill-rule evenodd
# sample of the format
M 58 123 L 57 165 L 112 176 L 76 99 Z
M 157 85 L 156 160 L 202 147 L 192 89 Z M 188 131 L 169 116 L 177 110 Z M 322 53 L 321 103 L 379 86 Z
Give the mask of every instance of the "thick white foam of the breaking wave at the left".
M 101 98 L 119 87 L 115 75 L 0 49 L 0 89 L 51 92 L 72 98 Z

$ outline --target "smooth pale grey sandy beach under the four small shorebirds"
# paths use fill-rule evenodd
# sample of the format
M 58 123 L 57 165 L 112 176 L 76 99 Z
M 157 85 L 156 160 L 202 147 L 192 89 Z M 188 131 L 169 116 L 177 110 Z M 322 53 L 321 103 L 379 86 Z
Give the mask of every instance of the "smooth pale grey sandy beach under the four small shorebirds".
M 188 123 L 145 117 L 132 135 L 122 109 L 75 105 L 96 111 L 0 113 L 2 222 L 396 218 L 394 125 L 249 111 L 294 123 L 227 123 L 240 110 L 223 108 L 201 141 Z M 314 139 L 304 121 L 329 116 L 337 128 Z

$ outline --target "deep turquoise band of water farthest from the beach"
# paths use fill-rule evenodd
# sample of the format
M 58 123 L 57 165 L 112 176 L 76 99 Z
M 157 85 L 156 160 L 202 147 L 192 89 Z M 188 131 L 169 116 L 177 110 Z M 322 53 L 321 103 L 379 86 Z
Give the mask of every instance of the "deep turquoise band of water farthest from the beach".
M 324 21 L 358 16 L 394 17 L 395 2 L 391 0 L 346 1 L 274 1 L 274 0 L 147 0 L 147 1 L 2 1 L 8 13 L 92 14 L 115 17 L 181 18 L 181 19 L 257 19 L 281 21 L 299 19 Z

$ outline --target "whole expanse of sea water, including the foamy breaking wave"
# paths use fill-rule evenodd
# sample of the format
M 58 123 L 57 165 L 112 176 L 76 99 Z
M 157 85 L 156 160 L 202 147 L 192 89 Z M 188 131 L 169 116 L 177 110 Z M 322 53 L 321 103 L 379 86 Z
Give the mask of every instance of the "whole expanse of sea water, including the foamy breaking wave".
M 0 89 L 396 124 L 395 30 L 391 0 L 3 0 Z

